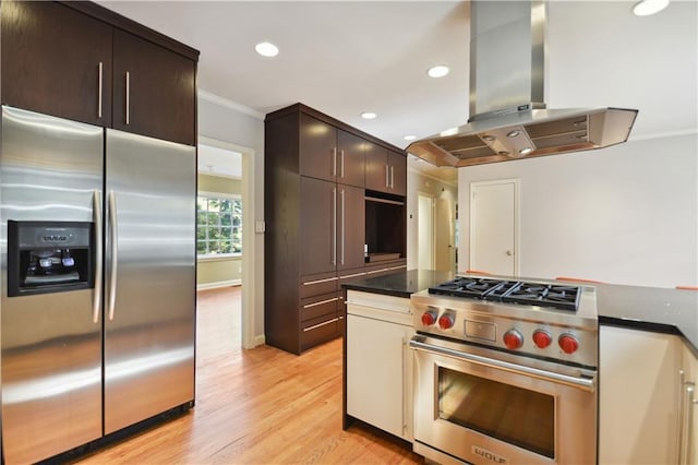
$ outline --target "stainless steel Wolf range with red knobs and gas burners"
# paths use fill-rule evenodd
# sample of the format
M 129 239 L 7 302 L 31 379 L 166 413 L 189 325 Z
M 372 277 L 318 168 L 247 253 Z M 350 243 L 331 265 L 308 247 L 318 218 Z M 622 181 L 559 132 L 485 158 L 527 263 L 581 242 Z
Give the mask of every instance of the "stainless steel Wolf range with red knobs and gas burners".
M 411 302 L 416 452 L 440 463 L 597 462 L 592 286 L 458 276 Z

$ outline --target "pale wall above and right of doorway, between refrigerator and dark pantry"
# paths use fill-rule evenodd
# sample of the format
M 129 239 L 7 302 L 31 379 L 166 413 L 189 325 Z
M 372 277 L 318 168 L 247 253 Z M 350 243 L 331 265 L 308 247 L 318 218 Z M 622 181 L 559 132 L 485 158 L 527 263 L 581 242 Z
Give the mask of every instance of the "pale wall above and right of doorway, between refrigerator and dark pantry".
M 245 218 L 245 224 L 254 225 L 264 220 L 264 116 L 245 111 L 232 103 L 200 93 L 198 96 L 198 135 L 239 145 L 254 151 L 254 218 Z M 244 162 L 243 162 L 244 163 Z M 245 251 L 246 253 L 246 251 Z M 252 276 L 243 270 L 243 307 L 251 301 L 254 308 L 254 339 L 264 341 L 264 235 L 254 235 L 254 263 L 251 263 Z

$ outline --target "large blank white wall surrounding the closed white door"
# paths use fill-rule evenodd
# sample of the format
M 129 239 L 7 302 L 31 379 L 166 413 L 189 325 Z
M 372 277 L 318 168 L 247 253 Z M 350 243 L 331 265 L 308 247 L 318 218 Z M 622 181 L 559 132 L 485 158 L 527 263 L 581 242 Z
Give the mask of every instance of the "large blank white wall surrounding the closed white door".
M 459 270 L 473 181 L 521 180 L 521 276 L 698 284 L 698 136 L 460 168 Z

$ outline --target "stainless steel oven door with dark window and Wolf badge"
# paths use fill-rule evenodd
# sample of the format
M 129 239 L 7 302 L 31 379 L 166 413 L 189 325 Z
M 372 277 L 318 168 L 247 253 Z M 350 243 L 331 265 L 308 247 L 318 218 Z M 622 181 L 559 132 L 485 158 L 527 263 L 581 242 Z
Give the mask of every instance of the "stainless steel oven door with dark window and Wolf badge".
M 595 370 L 423 335 L 410 347 L 416 452 L 476 464 L 597 462 Z

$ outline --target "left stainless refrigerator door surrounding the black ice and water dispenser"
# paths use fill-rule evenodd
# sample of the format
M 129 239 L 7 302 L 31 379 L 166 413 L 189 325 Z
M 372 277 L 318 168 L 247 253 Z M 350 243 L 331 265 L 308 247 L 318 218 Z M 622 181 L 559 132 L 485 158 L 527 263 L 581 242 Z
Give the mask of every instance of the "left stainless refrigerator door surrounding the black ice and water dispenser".
M 98 223 L 103 153 L 101 128 L 2 107 L 0 356 L 7 464 L 34 463 L 101 436 L 98 286 L 8 297 L 8 219 Z

